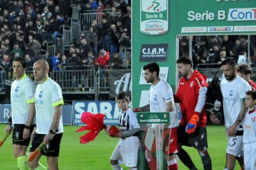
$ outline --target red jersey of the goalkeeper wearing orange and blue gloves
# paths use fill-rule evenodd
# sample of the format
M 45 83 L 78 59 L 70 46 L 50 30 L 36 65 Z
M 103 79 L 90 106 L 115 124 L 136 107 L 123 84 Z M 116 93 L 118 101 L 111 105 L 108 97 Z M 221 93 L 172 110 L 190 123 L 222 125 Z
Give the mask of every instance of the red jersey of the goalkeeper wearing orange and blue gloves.
M 176 99 L 182 100 L 182 102 L 180 103 L 182 113 L 180 125 L 186 126 L 187 123 L 191 120 L 191 117 L 195 114 L 199 90 L 201 87 L 208 87 L 205 78 L 206 77 L 204 77 L 197 70 L 194 70 L 194 73 L 188 80 L 184 77 L 180 79 L 178 90 L 175 95 Z M 198 116 L 199 122 L 197 122 L 196 126 L 205 127 L 207 122 L 205 106 L 203 107 L 201 113 L 198 114 Z

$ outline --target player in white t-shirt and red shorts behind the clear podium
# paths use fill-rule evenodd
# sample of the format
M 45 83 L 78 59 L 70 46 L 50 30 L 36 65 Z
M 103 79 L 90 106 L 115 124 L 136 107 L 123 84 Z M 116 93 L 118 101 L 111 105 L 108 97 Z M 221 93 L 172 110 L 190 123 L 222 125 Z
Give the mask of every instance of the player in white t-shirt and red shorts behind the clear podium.
M 135 112 L 170 112 L 170 122 L 171 124 L 164 125 L 164 141 L 165 145 L 165 158 L 167 160 L 168 169 L 178 169 L 178 164 L 175 158 L 175 153 L 178 152 L 177 146 L 177 115 L 175 112 L 173 92 L 170 85 L 160 80 L 159 71 L 160 68 L 157 63 L 150 63 L 143 67 L 144 78 L 147 83 L 152 83 L 149 91 L 149 105 L 144 107 L 135 108 Z M 147 133 L 147 130 L 145 134 Z M 147 137 L 147 136 L 145 136 Z M 168 140 L 165 140 L 165 137 L 168 137 Z M 168 144 L 167 144 L 168 143 Z M 145 156 L 148 161 L 150 169 L 156 169 L 156 158 L 153 156 L 155 152 L 155 140 L 152 145 L 151 151 L 146 149 Z

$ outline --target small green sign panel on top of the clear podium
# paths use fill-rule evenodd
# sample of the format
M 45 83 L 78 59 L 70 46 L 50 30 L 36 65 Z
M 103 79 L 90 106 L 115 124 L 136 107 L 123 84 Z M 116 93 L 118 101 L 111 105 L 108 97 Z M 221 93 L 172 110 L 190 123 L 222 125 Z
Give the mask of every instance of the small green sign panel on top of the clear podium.
M 168 124 L 170 123 L 170 113 L 150 113 L 140 112 L 137 113 L 139 124 Z

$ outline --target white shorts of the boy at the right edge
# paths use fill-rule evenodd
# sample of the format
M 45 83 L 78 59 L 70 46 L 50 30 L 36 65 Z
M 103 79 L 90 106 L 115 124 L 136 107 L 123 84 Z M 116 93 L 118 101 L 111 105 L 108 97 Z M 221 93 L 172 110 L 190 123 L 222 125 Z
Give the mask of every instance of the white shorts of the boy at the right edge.
M 244 144 L 244 169 L 256 170 L 256 142 Z

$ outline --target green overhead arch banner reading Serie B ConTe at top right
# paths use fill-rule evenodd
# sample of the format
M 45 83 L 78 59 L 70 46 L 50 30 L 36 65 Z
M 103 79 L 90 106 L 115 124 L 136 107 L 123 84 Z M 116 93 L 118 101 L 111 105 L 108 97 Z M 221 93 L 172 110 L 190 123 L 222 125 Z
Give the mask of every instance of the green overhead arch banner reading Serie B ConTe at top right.
M 178 35 L 255 34 L 255 0 L 180 0 Z

